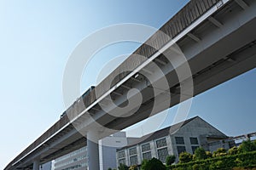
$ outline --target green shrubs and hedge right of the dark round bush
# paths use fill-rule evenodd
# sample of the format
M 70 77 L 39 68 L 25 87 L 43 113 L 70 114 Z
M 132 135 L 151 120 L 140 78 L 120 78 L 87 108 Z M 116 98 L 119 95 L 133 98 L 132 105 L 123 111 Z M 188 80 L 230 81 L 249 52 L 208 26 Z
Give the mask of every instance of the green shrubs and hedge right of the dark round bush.
M 169 166 L 167 169 L 228 170 L 233 169 L 233 167 L 236 167 L 236 169 L 256 167 L 256 141 L 243 141 L 239 147 L 235 146 L 228 151 L 224 148 L 219 148 L 213 154 L 202 148 L 197 148 L 193 161 L 189 161 L 190 156 L 189 153 L 183 152 L 179 156 L 182 160 L 177 165 Z

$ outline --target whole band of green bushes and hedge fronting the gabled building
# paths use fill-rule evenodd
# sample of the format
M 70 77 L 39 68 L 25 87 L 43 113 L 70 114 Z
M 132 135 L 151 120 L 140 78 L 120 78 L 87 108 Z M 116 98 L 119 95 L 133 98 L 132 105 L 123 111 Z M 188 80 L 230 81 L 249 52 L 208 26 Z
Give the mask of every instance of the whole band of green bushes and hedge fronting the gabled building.
M 166 157 L 166 166 L 158 159 L 143 160 L 142 170 L 245 170 L 256 167 L 256 141 L 243 141 L 239 147 L 234 146 L 230 150 L 219 148 L 213 154 L 203 148 L 197 148 L 195 154 L 183 152 L 179 155 L 177 165 L 175 156 Z M 166 168 L 167 167 L 167 168 Z M 254 169 L 254 168 L 253 168 Z M 137 166 L 130 168 L 120 164 L 119 170 L 137 170 Z M 256 168 L 255 168 L 256 170 Z

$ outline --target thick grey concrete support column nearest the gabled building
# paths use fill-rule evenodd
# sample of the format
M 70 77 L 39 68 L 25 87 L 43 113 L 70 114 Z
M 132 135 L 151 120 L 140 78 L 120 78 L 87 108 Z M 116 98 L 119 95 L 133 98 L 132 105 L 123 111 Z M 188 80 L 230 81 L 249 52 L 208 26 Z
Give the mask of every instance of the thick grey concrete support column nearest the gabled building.
M 94 131 L 87 133 L 87 150 L 89 170 L 100 169 L 98 135 Z

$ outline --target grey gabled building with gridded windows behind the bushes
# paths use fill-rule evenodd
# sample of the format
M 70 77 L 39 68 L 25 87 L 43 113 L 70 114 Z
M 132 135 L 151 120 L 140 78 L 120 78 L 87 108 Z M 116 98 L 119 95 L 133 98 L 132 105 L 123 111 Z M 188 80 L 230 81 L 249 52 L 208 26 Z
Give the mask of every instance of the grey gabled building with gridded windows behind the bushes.
M 140 165 L 144 159 L 149 160 L 152 157 L 165 163 L 168 155 L 176 156 L 176 161 L 178 161 L 180 153 L 187 151 L 192 154 L 200 146 L 209 151 L 220 147 L 229 149 L 232 141 L 219 142 L 222 139 L 225 141 L 224 139 L 228 139 L 228 136 L 212 127 L 201 117 L 195 116 L 187 121 L 145 135 L 136 143 L 117 150 L 117 167 L 120 163 L 127 166 Z

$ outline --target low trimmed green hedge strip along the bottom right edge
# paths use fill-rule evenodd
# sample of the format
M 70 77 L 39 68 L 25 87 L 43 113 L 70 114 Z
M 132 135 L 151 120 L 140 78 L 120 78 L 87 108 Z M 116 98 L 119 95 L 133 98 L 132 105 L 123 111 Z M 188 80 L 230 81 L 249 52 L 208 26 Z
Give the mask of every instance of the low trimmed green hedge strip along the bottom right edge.
M 256 151 L 232 156 L 220 156 L 201 161 L 190 161 L 168 166 L 168 170 L 231 170 L 233 167 L 256 167 Z

